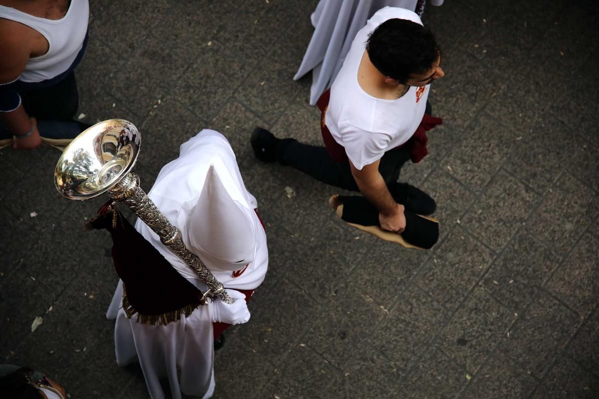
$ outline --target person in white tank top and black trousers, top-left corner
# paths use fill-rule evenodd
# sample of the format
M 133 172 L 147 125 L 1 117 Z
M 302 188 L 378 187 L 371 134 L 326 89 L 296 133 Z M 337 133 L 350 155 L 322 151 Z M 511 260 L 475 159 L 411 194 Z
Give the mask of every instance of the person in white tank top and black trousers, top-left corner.
M 88 19 L 87 0 L 0 0 L 0 147 L 13 140 L 15 148 L 38 147 L 38 120 L 68 121 L 71 136 L 87 127 L 72 118 L 73 70 L 86 48 Z M 52 132 L 47 142 L 70 139 Z

